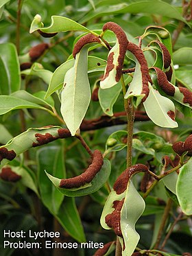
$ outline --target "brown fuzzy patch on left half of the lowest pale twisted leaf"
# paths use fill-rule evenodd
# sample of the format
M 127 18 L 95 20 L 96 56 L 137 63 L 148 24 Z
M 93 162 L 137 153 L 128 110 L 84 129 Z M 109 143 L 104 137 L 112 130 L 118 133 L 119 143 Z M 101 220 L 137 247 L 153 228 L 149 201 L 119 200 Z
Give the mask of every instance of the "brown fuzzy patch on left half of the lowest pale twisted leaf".
M 112 211 L 112 213 L 109 213 L 105 218 L 106 224 L 110 228 L 114 229 L 115 234 L 119 237 L 123 237 L 121 231 L 121 209 L 123 207 L 124 200 L 125 198 L 121 201 L 115 200 L 112 206 L 115 210 Z

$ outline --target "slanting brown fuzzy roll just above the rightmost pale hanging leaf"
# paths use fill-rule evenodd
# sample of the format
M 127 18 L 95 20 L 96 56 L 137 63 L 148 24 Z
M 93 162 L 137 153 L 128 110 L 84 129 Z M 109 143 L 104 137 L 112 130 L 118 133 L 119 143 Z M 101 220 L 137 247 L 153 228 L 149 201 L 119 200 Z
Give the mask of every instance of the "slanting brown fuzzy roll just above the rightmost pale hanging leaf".
M 158 67 L 153 67 L 153 69 L 156 71 L 158 85 L 160 86 L 160 89 L 162 89 L 167 95 L 174 96 L 176 90 L 174 86 L 170 84 L 167 80 L 167 76 L 165 75 L 165 73 Z

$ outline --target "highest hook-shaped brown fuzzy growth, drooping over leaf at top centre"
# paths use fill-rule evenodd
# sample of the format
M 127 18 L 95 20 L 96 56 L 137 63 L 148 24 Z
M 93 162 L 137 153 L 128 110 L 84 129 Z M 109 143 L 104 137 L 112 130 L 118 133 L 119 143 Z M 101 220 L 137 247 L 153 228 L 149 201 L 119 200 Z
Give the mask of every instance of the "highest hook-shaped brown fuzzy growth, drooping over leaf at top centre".
M 119 82 L 119 80 L 121 79 L 121 70 L 123 68 L 123 61 L 125 58 L 125 53 L 126 53 L 129 41 L 125 32 L 122 30 L 122 28 L 119 25 L 117 25 L 117 23 L 114 23 L 114 22 L 106 23 L 103 27 L 103 31 L 106 31 L 106 30 L 111 30 L 112 32 L 114 32 L 115 35 L 117 36 L 117 40 L 119 43 L 119 57 L 118 57 L 117 73 L 115 75 L 116 82 Z

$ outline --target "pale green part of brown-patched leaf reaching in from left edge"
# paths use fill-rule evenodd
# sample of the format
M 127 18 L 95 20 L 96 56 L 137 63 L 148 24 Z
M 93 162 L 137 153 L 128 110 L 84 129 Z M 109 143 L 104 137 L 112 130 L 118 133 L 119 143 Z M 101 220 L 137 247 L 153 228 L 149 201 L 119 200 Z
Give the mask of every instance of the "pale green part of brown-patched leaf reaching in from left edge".
M 60 138 L 58 135 L 58 129 L 60 128 L 60 126 L 29 128 L 25 132 L 21 133 L 21 135 L 18 135 L 11 139 L 10 141 L 8 141 L 8 143 L 5 144 L 4 146 L 1 146 L 0 150 L 1 148 L 4 148 L 4 150 L 6 148 L 8 151 L 13 150 L 15 156 L 19 156 L 19 154 L 25 152 L 26 150 L 29 150 L 29 148 L 32 148 L 34 146 L 40 146 L 38 144 L 38 141 L 36 140 L 36 134 L 45 135 L 48 133 L 49 136 L 51 135 L 50 137 L 53 138 L 53 140 L 55 140 Z M 50 141 L 45 140 L 45 143 L 48 142 L 51 142 L 51 139 Z M 10 160 L 3 157 L 3 159 L 1 159 L 0 168 L 3 167 L 3 165 L 7 164 L 8 162 L 10 162 Z

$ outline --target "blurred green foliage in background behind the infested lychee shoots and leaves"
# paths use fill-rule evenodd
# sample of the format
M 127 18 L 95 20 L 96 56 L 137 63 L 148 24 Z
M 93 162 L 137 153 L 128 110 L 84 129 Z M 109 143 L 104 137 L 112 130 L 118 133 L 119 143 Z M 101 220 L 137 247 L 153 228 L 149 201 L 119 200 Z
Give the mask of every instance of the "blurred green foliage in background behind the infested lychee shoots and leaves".
M 190 3 L 191 4 L 191 3 Z M 192 89 L 192 30 L 191 30 L 191 9 L 188 1 L 167 0 L 167 1 L 139 1 L 139 0 L 36 0 L 36 1 L 0 1 L 0 43 L 12 43 L 16 45 L 19 56 L 27 54 L 29 49 L 39 43 L 49 44 L 42 56 L 36 62 L 43 65 L 44 69 L 55 71 L 59 65 L 65 62 L 73 51 L 74 40 L 80 32 L 58 33 L 53 38 L 43 38 L 37 32 L 29 34 L 29 27 L 36 14 L 42 16 L 45 27 L 50 25 L 52 15 L 66 16 L 74 21 L 85 25 L 91 30 L 101 30 L 107 21 L 114 21 L 121 25 L 128 35 L 128 39 L 138 43 L 136 36 L 141 36 L 149 25 L 160 25 L 165 27 L 171 34 L 173 40 L 173 64 L 176 69 L 176 83 L 184 84 Z M 188 6 L 189 5 L 189 6 Z M 188 8 L 187 8 L 188 6 Z M 20 15 L 21 14 L 21 15 Z M 19 19 L 20 22 L 19 22 Z M 19 24 L 19 26 L 17 25 Z M 155 38 L 152 36 L 152 38 Z M 151 40 L 147 37 L 143 45 Z M 1 52 L 4 56 L 6 52 Z M 93 56 L 106 58 L 106 49 L 96 49 L 91 52 Z M 1 58 L 1 57 L 0 57 Z M 130 63 L 126 63 L 130 66 Z M 101 73 L 90 76 L 91 87 L 99 78 Z M 0 83 L 3 82 L 3 75 L 0 75 Z M 36 75 L 21 75 L 21 89 L 29 93 L 47 91 L 48 84 Z M 56 94 L 52 95 L 54 106 L 60 115 L 60 101 Z M 119 95 L 114 106 L 114 112 L 123 111 L 123 97 Z M 152 167 L 158 171 L 159 159 L 164 154 L 173 157 L 171 143 L 178 139 L 184 139 L 191 134 L 191 113 L 182 109 L 183 113 L 177 115 L 176 119 L 179 128 L 174 130 L 163 129 L 155 126 L 151 121 L 135 122 L 134 132 L 154 132 L 157 137 L 140 137 L 143 143 L 143 150 L 134 147 L 134 159 L 146 163 L 151 161 Z M 99 102 L 91 102 L 88 108 L 86 119 L 94 119 L 102 115 Z M 51 116 L 45 110 L 29 109 L 21 114 L 21 110 L 12 110 L 0 117 L 1 132 L 0 143 L 3 145 L 12 137 L 30 127 L 41 127 L 47 125 L 61 125 L 60 120 Z M 106 140 L 113 132 L 125 130 L 125 125 L 112 126 L 99 130 L 84 132 L 83 137 L 91 149 L 99 149 L 104 152 Z M 158 137 L 159 136 L 159 137 Z M 136 143 L 136 142 L 135 142 Z M 147 150 L 148 153 L 147 153 Z M 154 150 L 156 154 L 150 150 Z M 121 151 L 111 152 L 108 155 L 112 163 L 112 174 L 110 185 L 112 185 L 125 169 L 125 148 Z M 54 173 L 62 176 L 67 170 L 67 176 L 79 174 L 88 165 L 88 154 L 74 138 L 65 141 L 54 141 L 48 146 L 29 150 L 21 156 L 19 161 L 12 161 L 13 166 L 22 166 L 28 175 L 27 181 L 10 183 L 0 181 L 0 216 L 1 231 L 11 229 L 13 231 L 60 231 L 61 242 L 110 242 L 115 240 L 113 232 L 104 231 L 99 224 L 99 218 L 104 206 L 108 190 L 102 187 L 91 196 L 78 197 L 73 199 L 64 198 L 44 173 Z M 55 175 L 55 176 L 57 176 Z M 142 175 L 141 175 L 142 176 Z M 135 179 L 135 185 L 139 187 L 141 176 Z M 29 179 L 30 177 L 30 179 Z M 163 188 L 162 188 L 163 187 Z M 167 192 L 170 196 L 171 191 Z M 147 207 L 139 220 L 136 229 L 141 235 L 140 248 L 150 248 L 163 216 L 167 194 L 163 183 L 156 187 L 152 198 L 147 198 Z M 171 194 L 173 197 L 173 194 Z M 155 198 L 155 200 L 154 200 Z M 160 203 L 161 202 L 161 203 Z M 55 204 L 58 204 L 55 206 Z M 75 206 L 76 205 L 76 206 Z M 70 211 L 69 211 L 70 209 Z M 166 229 L 169 230 L 179 208 L 173 202 L 173 207 Z M 77 213 L 78 211 L 78 213 Z M 73 220 L 71 220 L 71 217 Z M 83 231 L 83 229 L 84 231 Z M 169 253 L 181 255 L 184 252 L 192 252 L 191 243 L 192 220 L 185 216 L 176 224 L 171 233 L 170 239 L 165 246 Z M 164 235 L 165 237 L 165 235 Z M 29 240 L 29 238 L 26 238 Z M 11 241 L 11 240 L 10 240 Z M 15 239 L 13 240 L 16 241 Z M 1 246 L 3 238 L 1 233 Z M 32 242 L 32 240 L 29 240 Z M 45 242 L 42 240 L 42 242 Z M 45 248 L 39 250 L 25 249 L 2 249 L 1 255 L 93 255 L 94 249 L 89 250 L 58 250 Z

